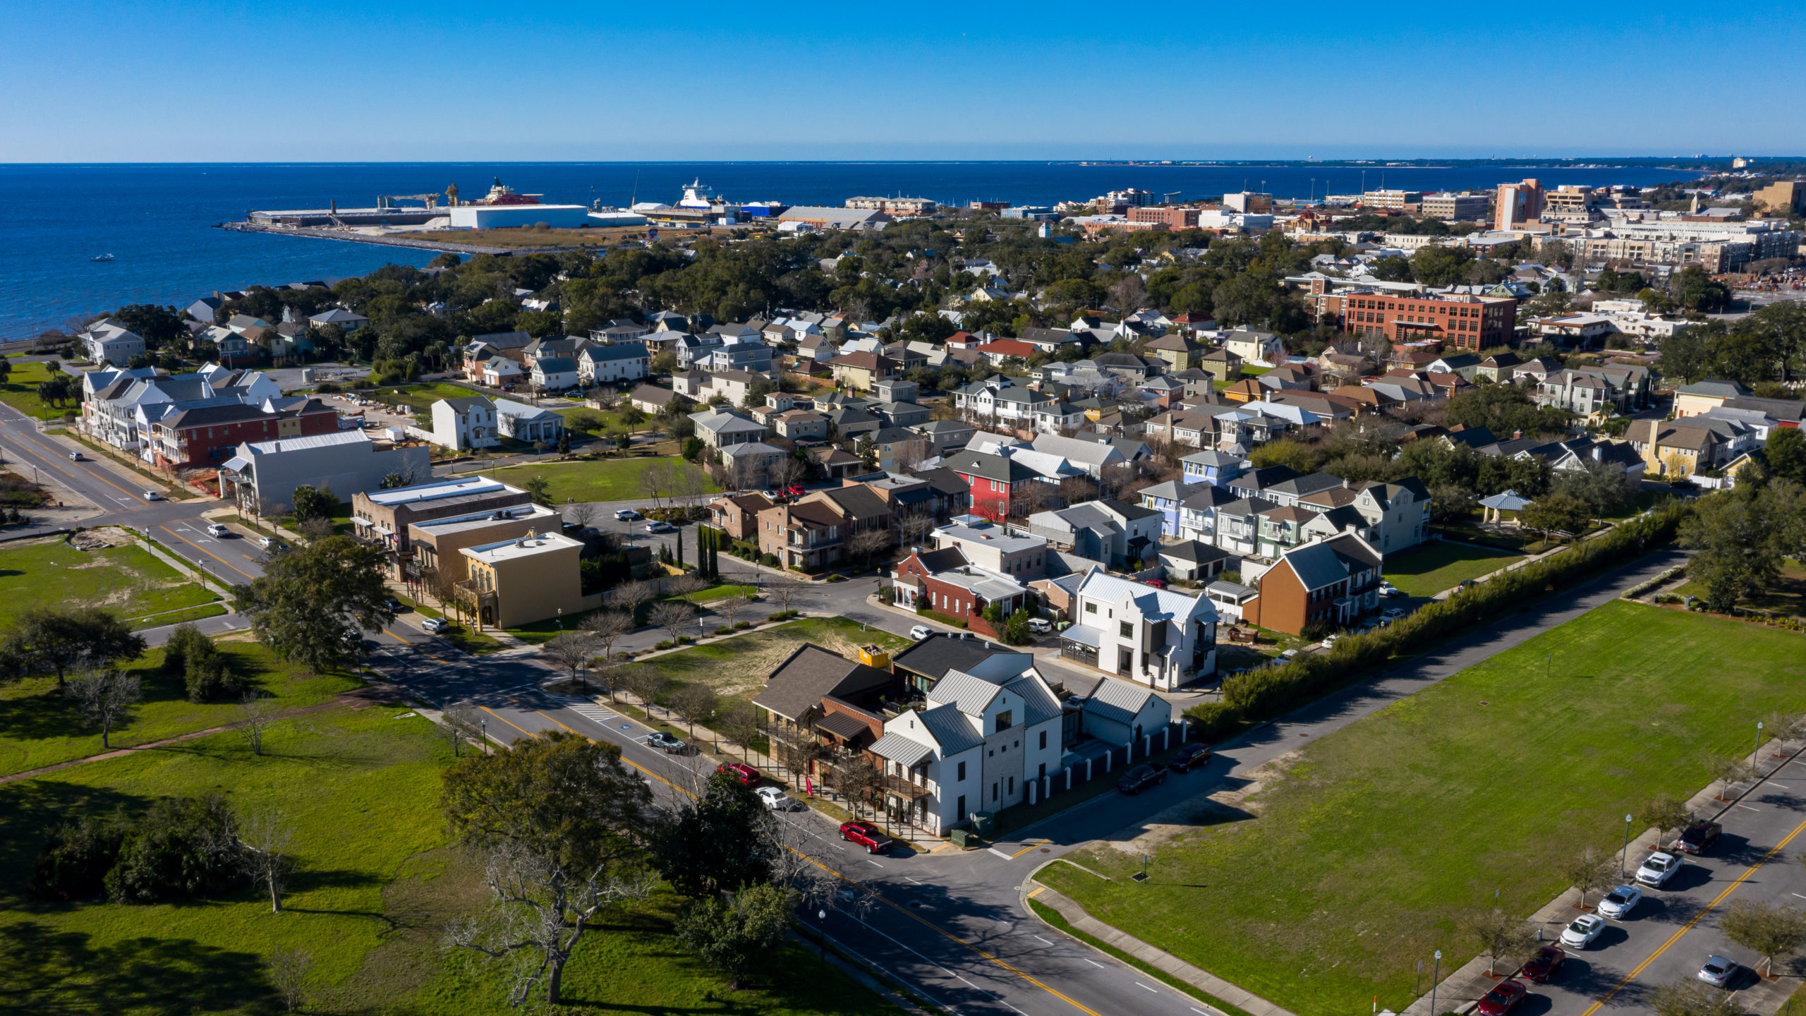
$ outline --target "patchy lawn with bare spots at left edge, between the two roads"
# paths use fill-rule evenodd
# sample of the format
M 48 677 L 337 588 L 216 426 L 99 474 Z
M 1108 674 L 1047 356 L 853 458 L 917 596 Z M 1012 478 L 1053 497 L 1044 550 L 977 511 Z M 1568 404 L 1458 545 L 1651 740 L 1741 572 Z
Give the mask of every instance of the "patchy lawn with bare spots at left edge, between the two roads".
M 45 539 L 0 550 L 0 626 L 31 607 L 107 607 L 137 618 L 217 598 L 137 546 L 81 551 Z

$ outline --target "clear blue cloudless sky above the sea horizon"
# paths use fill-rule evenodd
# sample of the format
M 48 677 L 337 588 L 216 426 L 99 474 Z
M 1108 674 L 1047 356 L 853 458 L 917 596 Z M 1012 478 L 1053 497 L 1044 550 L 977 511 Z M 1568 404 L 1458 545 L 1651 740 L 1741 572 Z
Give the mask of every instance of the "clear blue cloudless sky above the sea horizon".
M 1701 7 L 13 0 L 0 163 L 1806 152 Z

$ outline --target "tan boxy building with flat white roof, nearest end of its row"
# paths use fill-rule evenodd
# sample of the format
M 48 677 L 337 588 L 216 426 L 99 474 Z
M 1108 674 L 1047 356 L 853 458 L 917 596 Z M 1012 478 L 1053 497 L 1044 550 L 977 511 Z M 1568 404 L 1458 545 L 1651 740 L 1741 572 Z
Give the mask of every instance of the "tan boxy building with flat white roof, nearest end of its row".
M 477 616 L 495 627 L 518 627 L 583 609 L 578 555 L 583 544 L 563 533 L 527 533 L 511 541 L 466 546 L 470 579 L 459 582 L 477 602 Z

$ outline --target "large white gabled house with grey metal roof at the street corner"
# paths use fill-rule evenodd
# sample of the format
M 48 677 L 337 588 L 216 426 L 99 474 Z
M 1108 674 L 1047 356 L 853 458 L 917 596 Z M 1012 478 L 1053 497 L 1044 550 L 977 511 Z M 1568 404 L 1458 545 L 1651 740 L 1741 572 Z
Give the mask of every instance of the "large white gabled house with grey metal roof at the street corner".
M 950 671 L 921 707 L 885 721 L 870 752 L 887 777 L 921 790 L 908 817 L 941 833 L 973 812 L 1038 799 L 1029 786 L 1060 770 L 1060 701 L 1033 667 L 993 678 Z

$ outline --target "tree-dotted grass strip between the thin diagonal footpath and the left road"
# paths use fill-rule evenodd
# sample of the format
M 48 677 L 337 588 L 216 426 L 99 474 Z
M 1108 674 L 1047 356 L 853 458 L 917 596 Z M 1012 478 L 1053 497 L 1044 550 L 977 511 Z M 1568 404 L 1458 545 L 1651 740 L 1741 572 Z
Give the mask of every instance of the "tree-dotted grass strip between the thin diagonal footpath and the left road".
M 166 622 L 173 624 L 173 622 Z M 343 674 L 314 674 L 282 663 L 255 642 L 219 642 L 237 673 L 275 696 L 278 709 L 300 709 L 332 698 L 363 682 Z M 163 649 L 128 663 L 144 689 L 134 720 L 112 732 L 112 747 L 144 745 L 237 720 L 233 701 L 188 701 L 179 674 L 163 673 Z M 0 685 L 0 774 L 23 772 L 99 754 L 99 732 L 83 727 L 74 703 L 56 691 L 56 676 Z

